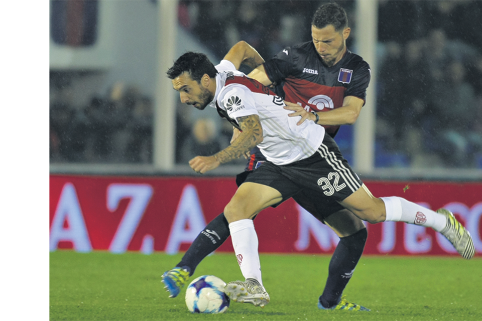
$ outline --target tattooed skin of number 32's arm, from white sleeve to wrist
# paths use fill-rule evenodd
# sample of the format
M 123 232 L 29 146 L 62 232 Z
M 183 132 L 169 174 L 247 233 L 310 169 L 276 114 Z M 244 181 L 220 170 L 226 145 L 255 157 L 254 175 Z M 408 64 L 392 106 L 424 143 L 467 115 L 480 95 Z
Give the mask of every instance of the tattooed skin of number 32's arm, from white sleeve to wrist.
M 239 117 L 237 122 L 243 132 L 229 146 L 214 155 L 221 164 L 241 157 L 263 141 L 263 128 L 258 115 Z

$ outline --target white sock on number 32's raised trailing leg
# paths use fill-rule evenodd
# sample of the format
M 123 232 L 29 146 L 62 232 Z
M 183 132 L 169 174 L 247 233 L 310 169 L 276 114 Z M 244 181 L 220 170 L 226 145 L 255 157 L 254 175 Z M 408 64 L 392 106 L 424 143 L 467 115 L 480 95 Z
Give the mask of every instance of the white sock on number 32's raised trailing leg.
M 387 218 L 385 221 L 405 222 L 431 227 L 440 232 L 447 225 L 447 218 L 435 211 L 407 201 L 404 198 L 391 196 L 381 198 L 385 203 Z

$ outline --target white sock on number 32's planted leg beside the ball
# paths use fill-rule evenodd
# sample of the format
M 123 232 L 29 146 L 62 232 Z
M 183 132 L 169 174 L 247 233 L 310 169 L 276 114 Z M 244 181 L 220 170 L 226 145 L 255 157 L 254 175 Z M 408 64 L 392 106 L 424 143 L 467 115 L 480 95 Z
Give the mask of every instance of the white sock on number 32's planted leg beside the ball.
M 258 280 L 261 285 L 261 263 L 258 253 L 258 235 L 253 220 L 239 220 L 229 224 L 232 247 L 237 263 L 245 278 Z

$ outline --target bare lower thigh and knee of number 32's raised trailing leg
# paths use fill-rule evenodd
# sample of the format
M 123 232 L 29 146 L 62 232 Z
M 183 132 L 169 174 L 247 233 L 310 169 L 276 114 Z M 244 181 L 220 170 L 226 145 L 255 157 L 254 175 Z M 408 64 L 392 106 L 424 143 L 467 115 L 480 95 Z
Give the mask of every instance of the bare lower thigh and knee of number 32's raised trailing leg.
M 370 223 L 385 221 L 385 203 L 374 197 L 365 184 L 339 203 L 364 221 Z

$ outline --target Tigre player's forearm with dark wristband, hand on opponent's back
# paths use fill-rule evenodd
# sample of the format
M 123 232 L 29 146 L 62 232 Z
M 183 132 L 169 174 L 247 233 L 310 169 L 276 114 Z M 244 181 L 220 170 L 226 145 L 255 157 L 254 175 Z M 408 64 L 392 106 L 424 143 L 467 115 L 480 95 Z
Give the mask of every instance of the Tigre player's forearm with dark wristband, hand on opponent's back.
M 352 125 L 358 118 L 364 103 L 365 101 L 362 98 L 346 96 L 341 107 L 328 111 L 318 111 L 316 114 L 319 119 L 316 123 L 319 125 Z M 306 119 L 316 120 L 314 113 L 306 111 L 300 105 L 287 101 L 285 101 L 285 104 L 285 109 L 294 111 L 289 114 L 290 117 L 301 116 L 300 121 L 297 123 L 298 125 L 301 125 Z

